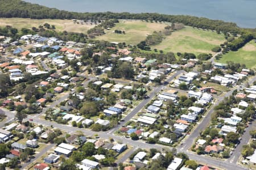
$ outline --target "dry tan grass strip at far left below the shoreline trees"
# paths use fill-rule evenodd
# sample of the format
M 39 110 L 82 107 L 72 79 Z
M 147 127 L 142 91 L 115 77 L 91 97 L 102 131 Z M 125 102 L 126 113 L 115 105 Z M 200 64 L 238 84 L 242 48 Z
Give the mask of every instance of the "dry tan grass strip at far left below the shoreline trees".
M 21 28 L 38 28 L 39 25 L 48 23 L 55 25 L 56 31 L 82 32 L 87 33 L 87 30 L 95 25 L 74 24 L 72 20 L 61 19 L 28 19 L 28 18 L 0 18 L 0 27 L 11 25 L 17 29 Z

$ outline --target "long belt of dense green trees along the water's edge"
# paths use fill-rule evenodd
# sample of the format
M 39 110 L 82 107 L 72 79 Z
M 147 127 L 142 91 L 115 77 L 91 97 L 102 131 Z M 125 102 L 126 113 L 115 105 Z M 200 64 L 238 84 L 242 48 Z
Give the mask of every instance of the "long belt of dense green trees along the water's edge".
M 83 20 L 105 20 L 105 19 L 141 19 L 156 20 L 159 22 L 183 23 L 192 27 L 212 29 L 221 32 L 241 33 L 242 29 L 236 23 L 212 20 L 188 15 L 165 15 L 157 13 L 130 14 L 129 12 L 69 12 L 48 8 L 20 0 L 0 0 L 0 17 L 5 18 L 32 18 L 32 19 L 83 19 Z M 250 31 L 254 31 L 250 29 Z

